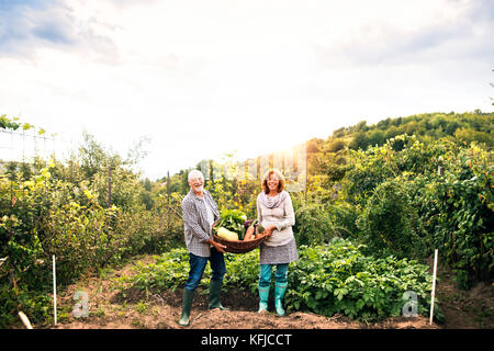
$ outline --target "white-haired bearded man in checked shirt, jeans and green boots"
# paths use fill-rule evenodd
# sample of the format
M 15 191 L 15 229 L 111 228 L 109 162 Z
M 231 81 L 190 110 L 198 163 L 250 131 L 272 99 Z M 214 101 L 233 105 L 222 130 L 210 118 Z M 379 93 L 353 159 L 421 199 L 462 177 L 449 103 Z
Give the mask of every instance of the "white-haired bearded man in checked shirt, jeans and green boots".
M 210 192 L 203 188 L 204 176 L 202 172 L 199 170 L 191 171 L 188 180 L 190 191 L 183 197 L 182 213 L 190 271 L 183 290 L 180 326 L 189 325 L 195 288 L 202 279 L 207 261 L 210 261 L 212 270 L 209 308 L 227 309 L 220 303 L 223 276 L 226 273 L 223 257 L 225 246 L 214 241 L 212 236 L 212 227 L 218 220 L 220 212 Z

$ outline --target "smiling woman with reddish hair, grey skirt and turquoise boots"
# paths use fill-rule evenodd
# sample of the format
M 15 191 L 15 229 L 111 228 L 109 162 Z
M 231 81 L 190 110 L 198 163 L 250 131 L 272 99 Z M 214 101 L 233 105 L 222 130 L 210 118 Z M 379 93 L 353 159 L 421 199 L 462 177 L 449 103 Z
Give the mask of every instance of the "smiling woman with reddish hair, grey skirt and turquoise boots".
M 262 178 L 262 192 L 257 196 L 257 216 L 268 237 L 259 250 L 259 313 L 268 310 L 268 297 L 271 286 L 272 269 L 274 273 L 274 308 L 284 316 L 282 299 L 288 287 L 289 263 L 299 259 L 292 226 L 295 225 L 290 194 L 284 190 L 284 177 L 271 169 Z

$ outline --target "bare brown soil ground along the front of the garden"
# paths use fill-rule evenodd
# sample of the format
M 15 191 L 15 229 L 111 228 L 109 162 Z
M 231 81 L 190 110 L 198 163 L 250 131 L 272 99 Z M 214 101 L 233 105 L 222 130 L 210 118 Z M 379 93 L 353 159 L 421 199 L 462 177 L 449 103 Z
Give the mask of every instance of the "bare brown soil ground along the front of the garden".
M 59 294 L 58 325 L 35 326 L 49 329 L 178 329 L 181 312 L 181 290 L 147 294 L 137 290 L 113 291 L 113 280 L 132 274 L 137 261 L 154 262 L 153 257 L 141 257 L 122 269 L 103 272 L 102 276 L 88 275 Z M 439 270 L 440 271 L 440 270 Z M 312 313 L 295 312 L 285 317 L 257 314 L 257 297 L 243 291 L 223 293 L 223 305 L 229 312 L 209 310 L 207 296 L 198 290 L 191 313 L 192 329 L 360 329 L 360 328 L 494 328 L 494 299 L 492 286 L 482 285 L 469 292 L 454 287 L 451 276 L 442 274 L 438 282 L 437 298 L 446 316 L 445 324 L 429 326 L 428 318 L 390 318 L 379 324 L 359 324 L 345 316 L 330 318 Z M 88 293 L 89 316 L 76 318 L 72 308 L 77 291 Z M 270 306 L 271 308 L 271 306 Z M 272 309 L 272 308 L 271 308 Z

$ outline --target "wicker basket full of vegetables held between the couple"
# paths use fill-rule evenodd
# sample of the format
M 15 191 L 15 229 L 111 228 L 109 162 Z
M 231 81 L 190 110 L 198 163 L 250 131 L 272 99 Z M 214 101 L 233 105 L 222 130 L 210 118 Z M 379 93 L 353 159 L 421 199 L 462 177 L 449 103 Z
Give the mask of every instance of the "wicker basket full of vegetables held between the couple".
M 257 248 L 266 237 L 258 220 L 248 220 L 238 210 L 223 210 L 213 227 L 214 240 L 226 246 L 225 251 L 245 253 Z

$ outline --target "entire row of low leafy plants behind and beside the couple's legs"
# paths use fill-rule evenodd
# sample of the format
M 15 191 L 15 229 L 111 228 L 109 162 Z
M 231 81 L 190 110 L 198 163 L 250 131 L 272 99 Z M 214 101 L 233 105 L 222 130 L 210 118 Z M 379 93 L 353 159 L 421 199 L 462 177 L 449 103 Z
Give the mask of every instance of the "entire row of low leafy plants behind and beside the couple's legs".
M 289 269 L 285 305 L 289 310 L 311 310 L 325 316 L 340 313 L 361 320 L 398 316 L 413 291 L 418 297 L 418 314 L 427 315 L 431 275 L 428 267 L 393 256 L 375 259 L 361 253 L 362 246 L 334 239 L 329 245 L 301 246 L 300 260 Z M 226 254 L 225 288 L 240 288 L 257 295 L 259 257 L 257 251 Z M 183 286 L 188 276 L 188 252 L 176 249 L 161 254 L 156 263 L 138 264 L 135 274 L 115 281 L 115 287 L 133 286 L 144 291 Z M 200 286 L 207 288 L 211 269 L 206 268 Z M 436 308 L 436 316 L 441 313 Z

